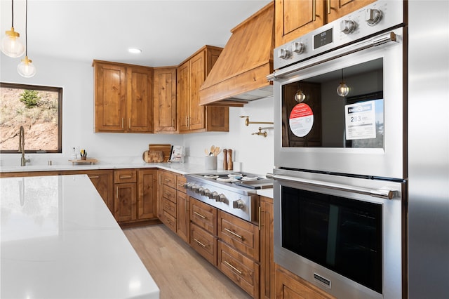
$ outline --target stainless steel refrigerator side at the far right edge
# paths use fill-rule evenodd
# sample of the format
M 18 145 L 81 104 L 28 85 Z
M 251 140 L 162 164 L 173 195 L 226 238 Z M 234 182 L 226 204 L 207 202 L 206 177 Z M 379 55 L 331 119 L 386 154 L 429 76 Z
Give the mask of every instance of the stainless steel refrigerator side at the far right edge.
M 449 1 L 408 1 L 408 295 L 449 296 Z

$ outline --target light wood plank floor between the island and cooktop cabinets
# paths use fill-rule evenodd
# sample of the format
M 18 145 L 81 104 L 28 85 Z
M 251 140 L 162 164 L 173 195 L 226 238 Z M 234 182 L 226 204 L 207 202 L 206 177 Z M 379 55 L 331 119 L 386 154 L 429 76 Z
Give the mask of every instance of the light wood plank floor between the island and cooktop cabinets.
M 165 225 L 123 230 L 161 290 L 161 299 L 251 298 Z

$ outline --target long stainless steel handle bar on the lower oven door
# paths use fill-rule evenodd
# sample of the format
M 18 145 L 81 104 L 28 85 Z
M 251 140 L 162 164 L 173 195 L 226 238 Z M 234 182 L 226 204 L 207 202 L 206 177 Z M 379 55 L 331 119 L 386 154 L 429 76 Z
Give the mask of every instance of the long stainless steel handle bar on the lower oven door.
M 382 199 L 393 199 L 398 196 L 398 192 L 396 190 L 390 190 L 388 188 L 380 188 L 380 189 L 370 189 L 363 187 L 355 187 L 349 185 L 335 184 L 333 182 L 322 182 L 319 180 L 307 180 L 304 178 L 294 178 L 286 175 L 273 175 L 273 178 L 276 180 L 286 180 L 286 181 L 294 181 L 301 182 L 303 184 L 317 186 L 317 187 L 325 187 L 333 190 L 341 190 L 347 192 L 355 192 L 358 194 L 370 195 L 371 197 L 380 197 Z

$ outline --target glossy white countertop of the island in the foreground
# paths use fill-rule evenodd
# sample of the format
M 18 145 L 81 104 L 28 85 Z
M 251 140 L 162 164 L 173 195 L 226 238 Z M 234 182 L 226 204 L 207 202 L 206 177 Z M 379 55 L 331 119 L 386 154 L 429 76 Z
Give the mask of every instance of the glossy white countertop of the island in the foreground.
M 159 298 L 87 175 L 0 178 L 1 298 Z

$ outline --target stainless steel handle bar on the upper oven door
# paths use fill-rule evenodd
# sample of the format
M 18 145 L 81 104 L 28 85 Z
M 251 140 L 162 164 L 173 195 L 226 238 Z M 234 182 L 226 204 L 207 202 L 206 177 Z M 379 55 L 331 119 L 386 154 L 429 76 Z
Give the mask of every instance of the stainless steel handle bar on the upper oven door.
M 349 55 L 351 53 L 355 53 L 357 51 L 365 50 L 367 48 L 373 48 L 375 46 L 380 46 L 383 44 L 390 43 L 391 41 L 399 43 L 399 36 L 395 34 L 394 32 L 388 32 L 385 34 L 380 34 L 377 36 L 372 37 L 371 39 L 368 39 L 366 41 L 360 41 L 356 44 L 351 44 L 349 46 L 345 46 L 343 48 L 340 48 L 338 50 L 332 51 L 328 53 L 327 55 L 320 55 L 319 57 L 310 59 L 307 63 L 300 63 L 300 66 L 297 64 L 292 65 L 291 67 L 286 67 L 285 69 L 279 69 L 272 74 L 269 74 L 267 76 L 268 81 L 273 81 L 277 78 L 286 77 L 288 74 L 292 74 L 294 72 L 297 72 L 301 69 L 307 69 L 308 67 L 313 67 L 314 65 L 319 65 L 323 62 L 327 62 L 329 60 L 334 60 L 336 58 L 340 58 L 345 55 Z

